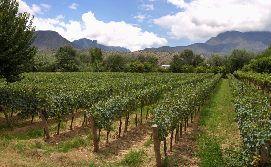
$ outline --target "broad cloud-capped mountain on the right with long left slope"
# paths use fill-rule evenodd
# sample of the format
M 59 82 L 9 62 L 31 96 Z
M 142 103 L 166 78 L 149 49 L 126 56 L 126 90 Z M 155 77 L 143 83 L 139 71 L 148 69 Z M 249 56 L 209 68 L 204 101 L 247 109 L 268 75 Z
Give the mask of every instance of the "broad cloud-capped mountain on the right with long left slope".
M 188 46 L 159 48 L 146 48 L 144 51 L 181 52 L 185 48 L 192 49 L 194 53 L 209 56 L 213 53 L 230 54 L 235 48 L 248 51 L 262 52 L 271 43 L 271 33 L 268 31 L 226 31 L 210 38 L 205 43 L 194 43 Z

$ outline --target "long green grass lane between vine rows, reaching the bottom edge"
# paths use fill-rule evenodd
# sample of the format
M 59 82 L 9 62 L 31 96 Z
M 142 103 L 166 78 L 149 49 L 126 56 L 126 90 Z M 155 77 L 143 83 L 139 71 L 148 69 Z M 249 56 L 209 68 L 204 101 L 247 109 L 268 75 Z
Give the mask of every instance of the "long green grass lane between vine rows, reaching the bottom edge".
M 201 108 L 199 124 L 203 134 L 193 134 L 192 137 L 196 139 L 196 157 L 200 158 L 199 165 L 202 167 L 225 166 L 227 156 L 223 155 L 227 153 L 223 153 L 221 145 L 238 138 L 234 120 L 236 112 L 231 100 L 228 79 L 220 79 Z

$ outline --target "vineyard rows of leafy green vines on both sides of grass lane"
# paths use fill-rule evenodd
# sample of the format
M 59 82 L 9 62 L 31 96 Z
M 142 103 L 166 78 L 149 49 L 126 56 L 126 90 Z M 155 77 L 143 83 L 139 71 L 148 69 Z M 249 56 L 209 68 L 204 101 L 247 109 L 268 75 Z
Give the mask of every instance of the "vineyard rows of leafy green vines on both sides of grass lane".
M 234 75 L 244 79 L 244 84 Z M 260 155 L 269 152 L 270 77 L 261 76 L 263 80 L 258 76 L 249 78 L 246 73 L 234 75 L 228 78 L 244 153 L 250 163 L 257 165 Z M 30 146 L 24 147 L 25 153 L 27 147 L 41 145 L 43 136 L 39 149 L 71 152 L 84 145 L 85 152 L 92 153 L 89 161 L 95 161 L 99 153 L 126 148 L 123 142 L 144 140 L 143 147 L 153 143 L 149 149 L 153 157 L 148 164 L 162 166 L 167 155 L 176 152 L 174 144 L 180 149 L 178 143 L 191 142 L 186 143 L 191 135 L 186 131 L 192 130 L 189 124 L 195 128 L 194 121 L 220 78 L 221 74 L 207 73 L 25 73 L 19 82 L 7 84 L 2 80 L 1 116 L 6 121 L 3 118 L 0 122 L 0 146 L 7 148 L 15 142 L 17 148 L 30 140 Z M 264 96 L 260 85 L 264 85 Z M 33 128 L 38 128 L 35 135 Z M 118 142 L 120 147 L 116 146 Z M 67 143 L 73 146 L 65 148 Z

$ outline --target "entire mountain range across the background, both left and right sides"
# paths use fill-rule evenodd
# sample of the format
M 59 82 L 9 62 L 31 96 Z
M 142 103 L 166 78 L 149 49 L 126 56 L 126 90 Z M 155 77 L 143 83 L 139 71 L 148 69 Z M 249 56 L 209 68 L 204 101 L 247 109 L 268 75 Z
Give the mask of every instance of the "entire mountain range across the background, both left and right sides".
M 82 38 L 73 42 L 63 38 L 55 31 L 36 31 L 38 36 L 32 45 L 38 46 L 38 50 L 48 48 L 58 48 L 65 44 L 70 44 L 75 49 L 88 49 L 90 47 L 99 47 L 104 51 L 119 51 L 124 53 L 131 52 L 125 47 L 113 47 L 98 44 L 97 40 Z M 34 34 L 35 34 L 34 33 Z M 142 51 L 154 52 L 181 52 L 185 48 L 192 49 L 194 53 L 209 56 L 213 53 L 230 54 L 235 48 L 246 49 L 248 51 L 262 52 L 268 44 L 271 43 L 271 33 L 268 31 L 226 31 L 212 37 L 205 43 L 194 43 L 188 46 L 169 47 L 163 46 L 159 48 L 146 48 Z

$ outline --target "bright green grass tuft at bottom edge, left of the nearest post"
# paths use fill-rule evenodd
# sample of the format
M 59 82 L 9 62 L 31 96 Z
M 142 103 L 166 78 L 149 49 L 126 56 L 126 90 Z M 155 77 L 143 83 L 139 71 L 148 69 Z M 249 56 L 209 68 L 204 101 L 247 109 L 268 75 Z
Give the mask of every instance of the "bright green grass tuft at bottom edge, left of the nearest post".
M 119 163 L 122 166 L 139 166 L 144 161 L 145 150 L 134 151 L 131 150 L 127 153 L 123 160 Z

